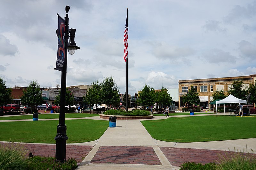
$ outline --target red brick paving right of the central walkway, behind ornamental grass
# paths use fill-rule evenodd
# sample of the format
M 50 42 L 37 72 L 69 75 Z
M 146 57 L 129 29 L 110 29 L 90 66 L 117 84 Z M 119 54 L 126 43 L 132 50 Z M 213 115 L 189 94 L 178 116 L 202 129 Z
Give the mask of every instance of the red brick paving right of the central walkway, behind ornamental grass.
M 185 162 L 196 163 L 210 163 L 220 160 L 218 155 L 222 155 L 227 158 L 234 154 L 231 151 L 217 151 L 207 149 L 190 149 L 190 148 L 172 148 L 172 147 L 160 147 L 165 157 L 169 160 L 172 166 L 180 166 Z M 250 157 L 256 159 L 256 154 L 248 154 Z

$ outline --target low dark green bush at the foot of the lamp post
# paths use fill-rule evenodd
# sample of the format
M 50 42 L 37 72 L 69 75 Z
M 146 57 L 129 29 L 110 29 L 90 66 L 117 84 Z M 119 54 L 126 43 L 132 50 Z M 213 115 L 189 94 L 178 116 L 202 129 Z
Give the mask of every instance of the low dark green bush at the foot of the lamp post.
M 53 157 L 34 156 L 29 159 L 31 163 L 28 170 L 74 170 L 77 168 L 77 162 L 74 158 L 68 158 L 63 163 L 55 161 Z

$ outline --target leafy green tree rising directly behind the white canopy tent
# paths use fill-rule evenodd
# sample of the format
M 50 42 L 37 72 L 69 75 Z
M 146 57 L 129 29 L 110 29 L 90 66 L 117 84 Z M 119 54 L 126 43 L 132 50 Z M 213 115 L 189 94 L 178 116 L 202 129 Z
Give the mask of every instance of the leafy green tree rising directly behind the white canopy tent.
M 233 96 L 237 97 L 238 99 L 246 100 L 248 95 L 248 88 L 245 87 L 242 80 L 236 80 L 232 83 L 228 94 L 232 94 Z

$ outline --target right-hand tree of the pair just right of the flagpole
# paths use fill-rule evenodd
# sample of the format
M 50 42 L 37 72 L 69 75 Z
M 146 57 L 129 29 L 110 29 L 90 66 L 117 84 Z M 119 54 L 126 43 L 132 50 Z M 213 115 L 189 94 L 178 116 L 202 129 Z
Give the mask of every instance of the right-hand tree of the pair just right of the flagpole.
M 156 92 L 156 102 L 159 103 L 159 106 L 170 106 L 172 103 L 172 97 L 167 92 L 167 88 L 162 87 L 161 92 Z

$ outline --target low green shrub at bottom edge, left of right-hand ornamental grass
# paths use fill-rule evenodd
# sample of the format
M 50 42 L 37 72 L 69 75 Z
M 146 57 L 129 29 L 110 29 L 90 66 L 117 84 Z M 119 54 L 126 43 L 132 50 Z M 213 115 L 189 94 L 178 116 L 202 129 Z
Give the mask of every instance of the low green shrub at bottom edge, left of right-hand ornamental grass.
M 215 163 L 201 164 L 195 162 L 185 162 L 180 165 L 180 170 L 214 170 L 216 167 Z

